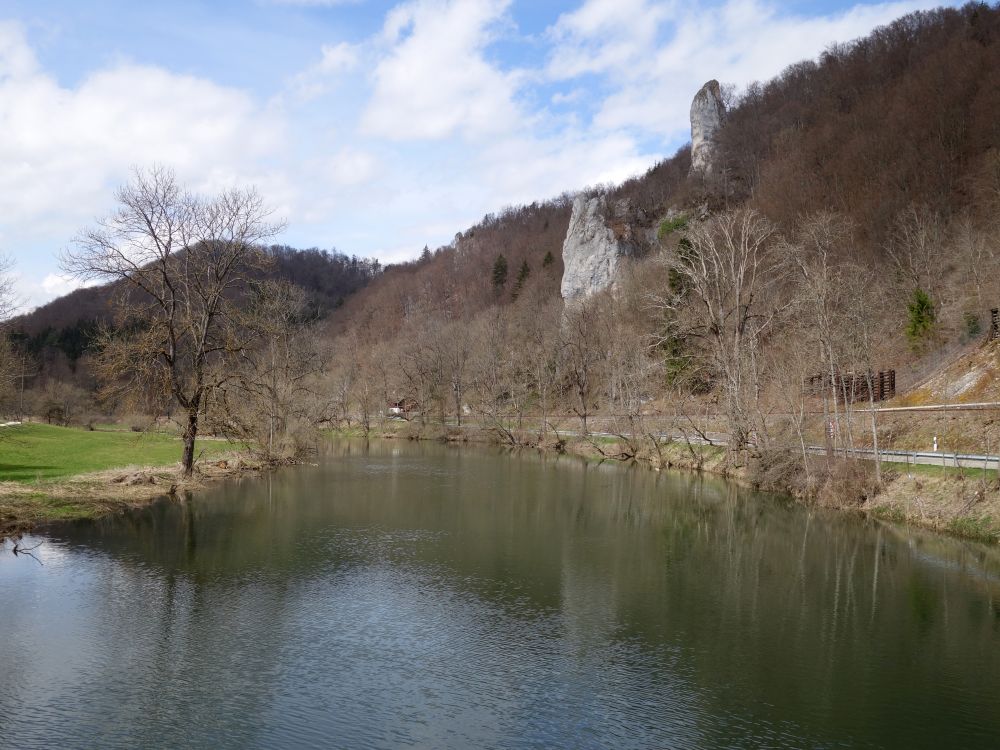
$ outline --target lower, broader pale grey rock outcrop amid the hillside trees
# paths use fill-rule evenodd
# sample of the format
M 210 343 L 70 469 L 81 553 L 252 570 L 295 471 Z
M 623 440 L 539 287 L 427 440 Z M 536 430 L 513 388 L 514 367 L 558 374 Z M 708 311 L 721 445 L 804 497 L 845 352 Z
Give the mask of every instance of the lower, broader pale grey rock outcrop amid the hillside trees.
M 609 222 L 610 213 L 610 222 Z M 616 220 L 619 214 L 622 220 Z M 627 207 L 608 210 L 604 196 L 579 195 L 573 201 L 569 231 L 563 242 L 563 278 L 560 291 L 567 302 L 589 297 L 615 281 L 621 258 L 633 255 L 636 246 Z M 624 231 L 616 231 L 620 228 Z

